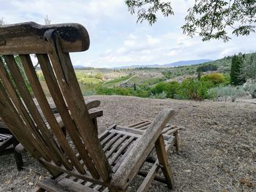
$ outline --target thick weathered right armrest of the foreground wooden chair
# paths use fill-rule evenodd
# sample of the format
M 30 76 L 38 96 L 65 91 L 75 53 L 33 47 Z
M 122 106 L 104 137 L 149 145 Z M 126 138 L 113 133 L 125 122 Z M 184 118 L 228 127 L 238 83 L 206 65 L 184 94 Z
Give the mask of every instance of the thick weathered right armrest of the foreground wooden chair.
M 151 125 L 148 127 L 145 134 L 138 139 L 131 150 L 127 151 L 128 155 L 121 163 L 116 173 L 112 175 L 111 185 L 118 189 L 124 190 L 129 185 L 129 182 L 138 173 L 140 166 L 146 161 L 147 156 L 154 148 L 154 143 L 162 134 L 162 129 L 165 128 L 170 118 L 174 115 L 173 109 L 164 109 Z

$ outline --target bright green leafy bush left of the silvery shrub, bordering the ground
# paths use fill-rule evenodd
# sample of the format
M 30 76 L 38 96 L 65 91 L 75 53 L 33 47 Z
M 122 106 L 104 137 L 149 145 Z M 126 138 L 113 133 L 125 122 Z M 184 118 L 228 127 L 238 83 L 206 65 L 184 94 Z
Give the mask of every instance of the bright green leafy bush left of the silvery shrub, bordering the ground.
M 208 89 L 212 86 L 211 82 L 188 78 L 181 82 L 177 96 L 179 99 L 202 101 L 203 99 L 208 98 Z

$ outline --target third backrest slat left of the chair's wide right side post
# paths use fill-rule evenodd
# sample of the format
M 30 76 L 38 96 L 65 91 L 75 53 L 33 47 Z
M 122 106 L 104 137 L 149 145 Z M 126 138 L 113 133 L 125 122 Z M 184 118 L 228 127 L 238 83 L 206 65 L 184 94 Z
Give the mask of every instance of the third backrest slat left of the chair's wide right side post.
M 45 126 L 45 123 L 42 120 L 42 116 L 40 115 L 36 104 L 34 104 L 31 94 L 29 93 L 29 90 L 26 87 L 23 77 L 20 74 L 18 65 L 15 62 L 14 56 L 4 55 L 4 60 L 7 63 L 7 67 L 10 70 L 10 74 L 13 77 L 13 80 L 15 82 L 16 87 L 18 88 L 20 96 L 22 97 L 24 103 L 26 104 L 26 107 L 29 110 L 31 117 L 34 119 L 34 121 L 37 124 L 37 127 L 34 129 L 37 130 L 38 128 L 40 131 L 40 134 L 37 134 L 36 139 L 38 139 L 39 142 L 42 143 L 41 145 L 45 145 L 44 149 L 45 149 L 45 152 L 48 154 L 48 157 L 54 163 L 60 164 L 59 158 L 56 156 L 56 153 L 58 150 L 56 149 L 56 144 L 54 143 L 53 138 L 51 137 L 47 126 Z M 50 147 L 48 147 L 48 145 L 50 145 Z

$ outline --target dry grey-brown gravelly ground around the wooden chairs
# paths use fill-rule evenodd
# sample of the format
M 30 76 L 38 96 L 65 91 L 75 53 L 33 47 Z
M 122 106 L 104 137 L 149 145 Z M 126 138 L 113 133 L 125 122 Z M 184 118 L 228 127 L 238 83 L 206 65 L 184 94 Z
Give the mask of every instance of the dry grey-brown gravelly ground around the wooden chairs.
M 256 191 L 256 104 L 91 96 L 102 101 L 100 131 L 113 123 L 153 120 L 165 107 L 176 110 L 170 123 L 180 131 L 181 151 L 169 152 L 175 191 Z M 13 155 L 0 156 L 0 191 L 31 191 L 48 173 L 26 154 L 18 172 Z M 135 191 L 136 177 L 129 191 Z M 150 191 L 170 191 L 154 182 Z

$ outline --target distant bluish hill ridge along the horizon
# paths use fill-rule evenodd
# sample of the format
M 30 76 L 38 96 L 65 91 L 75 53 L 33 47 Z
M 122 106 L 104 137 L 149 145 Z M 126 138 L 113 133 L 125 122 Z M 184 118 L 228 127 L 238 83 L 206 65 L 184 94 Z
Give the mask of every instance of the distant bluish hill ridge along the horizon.
M 170 64 L 164 65 L 132 65 L 132 66 L 118 66 L 114 67 L 114 69 L 129 69 L 129 68 L 142 68 L 142 67 L 173 67 L 173 66 L 191 66 L 197 64 L 204 64 L 209 61 L 213 61 L 211 59 L 198 59 L 198 60 L 188 60 L 188 61 L 177 61 Z

